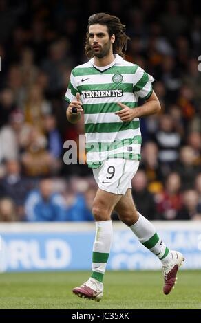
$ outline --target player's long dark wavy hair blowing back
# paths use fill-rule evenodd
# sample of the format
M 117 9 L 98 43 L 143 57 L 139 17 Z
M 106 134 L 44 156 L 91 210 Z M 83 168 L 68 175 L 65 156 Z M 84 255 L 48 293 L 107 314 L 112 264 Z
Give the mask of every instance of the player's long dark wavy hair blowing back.
M 112 35 L 115 36 L 113 52 L 124 57 L 123 49 L 127 49 L 127 41 L 130 39 L 130 37 L 125 34 L 125 25 L 120 22 L 120 19 L 118 17 L 100 12 L 98 14 L 89 16 L 87 37 L 85 42 L 85 54 L 87 58 L 93 57 L 92 49 L 89 45 L 89 26 L 96 24 L 107 26 L 109 37 L 111 37 Z

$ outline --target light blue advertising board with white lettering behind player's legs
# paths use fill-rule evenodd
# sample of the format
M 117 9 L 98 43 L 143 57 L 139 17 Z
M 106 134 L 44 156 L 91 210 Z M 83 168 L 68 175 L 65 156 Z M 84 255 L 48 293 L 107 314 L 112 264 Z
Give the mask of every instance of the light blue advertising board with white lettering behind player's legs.
M 161 230 L 170 249 L 184 254 L 184 269 L 201 269 L 200 230 Z M 94 231 L 0 232 L 0 271 L 55 271 L 91 269 Z M 130 230 L 114 232 L 107 269 L 160 269 Z

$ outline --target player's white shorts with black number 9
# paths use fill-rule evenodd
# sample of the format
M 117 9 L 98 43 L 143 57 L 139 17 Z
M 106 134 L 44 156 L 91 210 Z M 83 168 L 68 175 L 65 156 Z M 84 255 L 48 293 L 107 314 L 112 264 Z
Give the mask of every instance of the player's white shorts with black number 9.
M 109 158 L 98 168 L 93 168 L 94 178 L 101 190 L 125 195 L 131 188 L 131 179 L 136 175 L 138 160 Z

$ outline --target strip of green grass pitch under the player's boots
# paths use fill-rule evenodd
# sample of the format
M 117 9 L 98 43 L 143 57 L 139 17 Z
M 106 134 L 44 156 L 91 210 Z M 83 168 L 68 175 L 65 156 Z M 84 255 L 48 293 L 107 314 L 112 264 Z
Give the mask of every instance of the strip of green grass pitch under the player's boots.
M 159 271 L 107 271 L 98 303 L 72 294 L 89 273 L 0 274 L 0 309 L 201 309 L 201 272 L 180 271 L 176 288 L 162 293 Z

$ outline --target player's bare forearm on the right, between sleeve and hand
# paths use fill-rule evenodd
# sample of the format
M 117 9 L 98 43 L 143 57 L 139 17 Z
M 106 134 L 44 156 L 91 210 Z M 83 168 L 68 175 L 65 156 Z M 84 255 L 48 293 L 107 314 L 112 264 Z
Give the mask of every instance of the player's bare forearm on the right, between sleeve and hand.
M 156 114 L 160 111 L 160 102 L 158 100 L 149 100 L 142 106 L 134 109 L 135 118 L 145 117 L 148 115 Z

